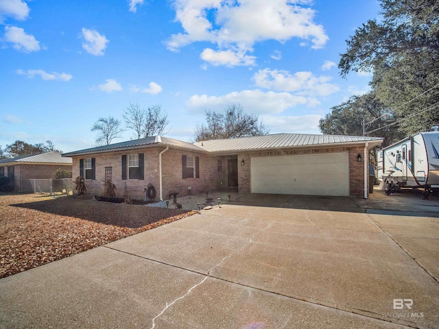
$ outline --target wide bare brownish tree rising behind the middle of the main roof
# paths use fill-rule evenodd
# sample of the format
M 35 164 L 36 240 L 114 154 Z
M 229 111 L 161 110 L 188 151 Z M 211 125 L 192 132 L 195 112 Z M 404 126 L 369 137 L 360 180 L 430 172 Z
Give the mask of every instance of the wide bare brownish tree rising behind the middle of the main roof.
M 196 142 L 212 139 L 260 136 L 269 130 L 256 114 L 247 114 L 241 106 L 231 105 L 222 112 L 206 111 L 206 124 L 195 127 Z

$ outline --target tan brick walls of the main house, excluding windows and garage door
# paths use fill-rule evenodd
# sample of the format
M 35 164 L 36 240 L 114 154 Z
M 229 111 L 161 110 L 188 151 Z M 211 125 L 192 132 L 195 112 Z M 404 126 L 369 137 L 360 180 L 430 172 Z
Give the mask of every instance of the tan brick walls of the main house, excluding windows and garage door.
M 123 197 L 125 187 L 132 199 L 145 199 L 145 188 L 152 184 L 156 189 L 156 200 L 160 193 L 158 154 L 163 147 L 118 151 L 108 154 L 94 154 L 93 156 L 73 156 L 73 180 L 80 175 L 80 159 L 95 158 L 95 180 L 86 180 L 88 194 L 104 195 L 105 167 L 112 168 L 112 182 L 116 185 L 117 197 Z M 349 154 L 350 190 L 351 196 L 364 196 L 364 159 L 357 161 L 357 154 L 363 157 L 363 147 L 330 147 L 316 149 L 294 149 L 285 151 L 265 151 L 238 154 L 238 191 L 250 193 L 250 162 L 255 156 L 279 156 L 294 154 L 316 154 L 347 151 Z M 144 180 L 122 180 L 121 157 L 128 154 L 144 154 Z M 236 155 L 236 154 L 235 154 Z M 200 178 L 182 178 L 182 156 L 194 156 L 200 159 Z M 128 158 L 128 157 L 127 157 Z M 218 171 L 218 159 L 222 160 L 222 171 Z M 244 160 L 244 164 L 241 164 Z M 368 159 L 366 159 L 368 161 Z M 177 191 L 178 196 L 187 195 L 187 188 L 191 186 L 191 193 L 205 193 L 228 187 L 228 156 L 214 156 L 198 154 L 182 149 L 168 149 L 162 155 L 163 199 L 168 199 L 170 191 Z M 195 176 L 195 175 L 194 175 Z M 74 187 L 74 184 L 73 184 Z

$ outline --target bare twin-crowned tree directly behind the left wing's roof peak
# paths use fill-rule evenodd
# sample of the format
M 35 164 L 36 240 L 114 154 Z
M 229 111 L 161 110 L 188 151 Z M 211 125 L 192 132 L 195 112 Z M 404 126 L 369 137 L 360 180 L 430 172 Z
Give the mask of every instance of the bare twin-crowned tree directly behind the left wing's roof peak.
M 126 127 L 134 131 L 134 138 L 163 135 L 169 124 L 167 113 L 160 105 L 150 106 L 145 110 L 137 103 L 130 103 L 123 114 L 123 119 Z

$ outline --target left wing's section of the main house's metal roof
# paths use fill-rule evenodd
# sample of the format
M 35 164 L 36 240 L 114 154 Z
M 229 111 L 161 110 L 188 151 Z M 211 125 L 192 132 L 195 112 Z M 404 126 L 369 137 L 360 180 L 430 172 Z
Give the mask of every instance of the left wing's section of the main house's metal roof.
M 79 156 L 82 154 L 105 153 L 110 151 L 119 151 L 122 149 L 140 149 L 140 148 L 155 147 L 155 146 L 169 146 L 179 149 L 190 149 L 192 151 L 199 151 L 204 153 L 206 152 L 206 150 L 196 145 L 193 145 L 192 143 L 178 141 L 177 139 L 164 137 L 164 136 L 151 136 L 141 139 L 134 139 L 132 141 L 126 141 L 126 142 L 98 146 L 98 147 L 91 147 L 90 149 L 80 149 L 79 151 L 64 153 L 62 154 L 62 156 Z

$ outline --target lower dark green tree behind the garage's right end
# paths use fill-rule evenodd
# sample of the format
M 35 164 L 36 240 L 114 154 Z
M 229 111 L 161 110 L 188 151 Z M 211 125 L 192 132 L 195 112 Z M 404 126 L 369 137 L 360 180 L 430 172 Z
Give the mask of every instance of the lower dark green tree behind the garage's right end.
M 379 127 L 394 122 L 392 112 L 377 99 L 375 93 L 354 95 L 348 101 L 333 106 L 332 112 L 320 119 L 319 127 L 323 134 L 362 136 L 363 125 L 366 131 L 376 130 Z M 368 136 L 383 137 L 383 146 L 399 141 L 403 134 L 395 125 L 377 130 Z

